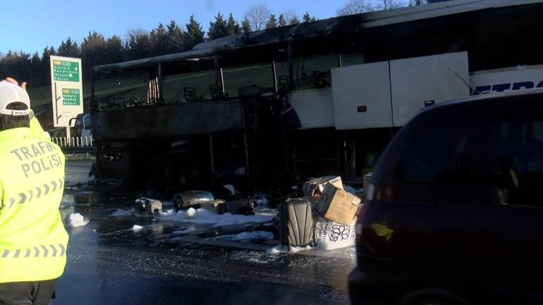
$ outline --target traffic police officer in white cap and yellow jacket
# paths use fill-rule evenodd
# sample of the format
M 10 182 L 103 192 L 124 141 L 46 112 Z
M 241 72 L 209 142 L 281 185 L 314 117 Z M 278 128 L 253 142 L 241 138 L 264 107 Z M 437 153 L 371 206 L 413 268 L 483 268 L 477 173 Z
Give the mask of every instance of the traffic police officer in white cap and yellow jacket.
M 49 304 L 66 266 L 65 158 L 30 130 L 30 98 L 0 82 L 0 304 Z

